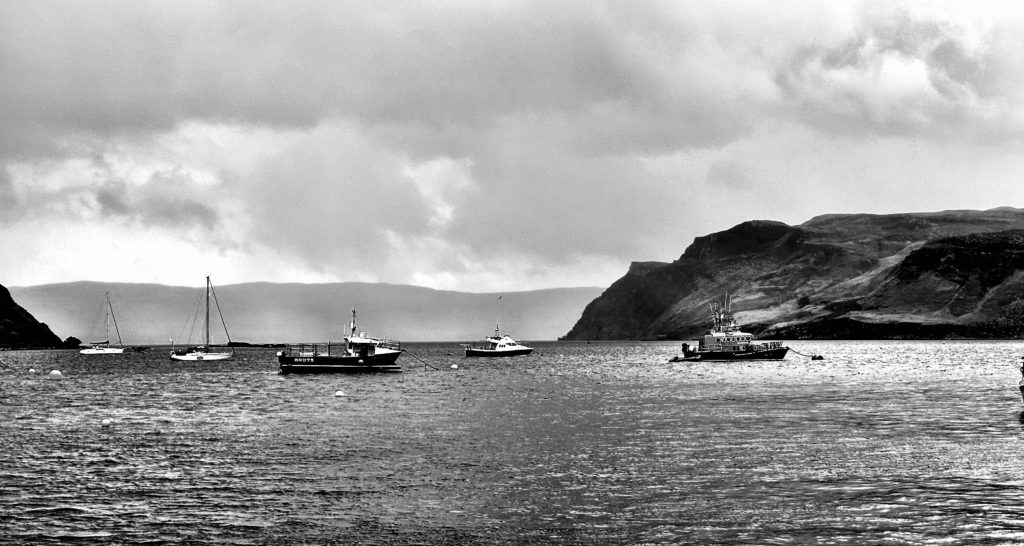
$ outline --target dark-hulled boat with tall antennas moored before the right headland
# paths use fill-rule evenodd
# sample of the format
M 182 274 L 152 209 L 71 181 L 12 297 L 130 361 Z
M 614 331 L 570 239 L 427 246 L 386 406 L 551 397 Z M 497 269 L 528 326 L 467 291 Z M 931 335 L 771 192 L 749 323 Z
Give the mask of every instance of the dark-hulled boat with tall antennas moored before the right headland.
M 726 305 L 711 304 L 712 328 L 697 340 L 697 345 L 683 343 L 682 353 L 670 362 L 689 361 L 781 361 L 790 347 L 781 341 L 759 341 L 754 335 L 739 330 L 732 318 L 731 301 Z

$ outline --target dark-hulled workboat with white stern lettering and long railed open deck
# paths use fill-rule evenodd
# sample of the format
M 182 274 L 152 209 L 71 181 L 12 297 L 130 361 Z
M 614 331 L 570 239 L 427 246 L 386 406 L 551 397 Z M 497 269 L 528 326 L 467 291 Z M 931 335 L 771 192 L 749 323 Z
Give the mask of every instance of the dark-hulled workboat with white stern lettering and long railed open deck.
M 397 361 L 401 352 L 401 344 L 397 341 L 357 333 L 355 307 L 352 307 L 349 335 L 343 344 L 292 344 L 278 352 L 278 363 L 282 374 L 400 372 L 401 365 Z

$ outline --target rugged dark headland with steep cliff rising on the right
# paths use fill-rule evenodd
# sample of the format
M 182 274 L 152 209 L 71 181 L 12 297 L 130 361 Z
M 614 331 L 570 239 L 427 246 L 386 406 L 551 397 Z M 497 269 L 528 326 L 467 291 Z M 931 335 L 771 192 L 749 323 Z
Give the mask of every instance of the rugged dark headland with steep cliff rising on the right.
M 727 293 L 744 330 L 771 337 L 1015 337 L 1024 210 L 743 222 L 634 264 L 563 339 L 688 339 Z

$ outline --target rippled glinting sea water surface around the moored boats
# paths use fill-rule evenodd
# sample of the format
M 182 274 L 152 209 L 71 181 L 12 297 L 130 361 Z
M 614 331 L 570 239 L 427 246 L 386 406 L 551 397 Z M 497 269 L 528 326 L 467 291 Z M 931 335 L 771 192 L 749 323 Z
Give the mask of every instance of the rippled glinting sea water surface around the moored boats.
M 2 352 L 0 541 L 1024 542 L 1024 343 L 791 345 L 825 360 L 410 344 L 401 374 L 281 376 L 263 349 Z

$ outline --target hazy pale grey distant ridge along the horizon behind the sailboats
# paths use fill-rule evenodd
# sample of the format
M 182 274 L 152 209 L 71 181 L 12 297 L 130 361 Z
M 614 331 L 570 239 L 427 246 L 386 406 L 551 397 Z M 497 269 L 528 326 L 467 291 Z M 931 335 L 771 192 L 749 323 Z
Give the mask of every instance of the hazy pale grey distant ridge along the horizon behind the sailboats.
M 360 330 L 402 341 L 482 339 L 498 321 L 518 339 L 555 339 L 601 292 L 585 287 L 480 294 L 374 283 L 216 286 L 216 278 L 214 283 L 231 340 L 253 343 L 340 340 L 352 307 Z M 198 327 L 188 324 L 202 288 L 95 282 L 10 287 L 13 298 L 57 335 L 83 341 L 103 336 L 105 292 L 125 344 L 187 343 L 189 331 L 191 342 L 199 340 Z M 214 340 L 222 341 L 213 312 Z

